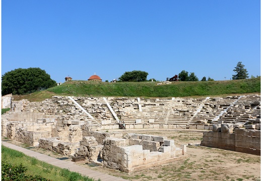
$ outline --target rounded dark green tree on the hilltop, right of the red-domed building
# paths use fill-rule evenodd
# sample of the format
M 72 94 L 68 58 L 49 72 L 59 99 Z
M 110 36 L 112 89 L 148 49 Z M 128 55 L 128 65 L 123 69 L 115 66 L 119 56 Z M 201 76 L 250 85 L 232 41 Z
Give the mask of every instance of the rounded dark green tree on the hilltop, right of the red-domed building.
M 144 82 L 147 80 L 148 73 L 144 71 L 125 72 L 119 80 L 122 82 Z

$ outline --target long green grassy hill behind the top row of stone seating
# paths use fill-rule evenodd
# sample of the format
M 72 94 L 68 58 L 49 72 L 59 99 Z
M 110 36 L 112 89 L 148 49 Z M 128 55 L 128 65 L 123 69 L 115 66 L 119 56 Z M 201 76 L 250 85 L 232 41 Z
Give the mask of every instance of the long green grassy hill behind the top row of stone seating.
M 45 91 L 15 96 L 15 100 L 42 101 L 62 96 L 123 96 L 123 97 L 195 97 L 226 94 L 260 94 L 260 77 L 230 81 L 172 82 L 94 82 L 69 81 Z

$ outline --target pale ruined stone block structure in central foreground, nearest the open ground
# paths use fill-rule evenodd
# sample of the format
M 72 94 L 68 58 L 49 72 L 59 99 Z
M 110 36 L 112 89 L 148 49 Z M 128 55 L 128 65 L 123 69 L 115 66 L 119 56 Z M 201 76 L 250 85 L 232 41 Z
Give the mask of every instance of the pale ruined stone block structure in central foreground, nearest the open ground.
M 186 146 L 176 148 L 174 140 L 151 135 L 127 134 L 123 138 L 106 138 L 103 164 L 127 173 L 167 164 L 186 155 Z

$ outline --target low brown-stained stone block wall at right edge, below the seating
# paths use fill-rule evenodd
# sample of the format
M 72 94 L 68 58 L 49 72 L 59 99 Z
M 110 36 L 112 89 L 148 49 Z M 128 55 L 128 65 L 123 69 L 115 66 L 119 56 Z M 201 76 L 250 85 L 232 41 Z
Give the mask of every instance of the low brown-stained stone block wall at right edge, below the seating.
M 260 130 L 234 129 L 230 132 L 204 132 L 201 146 L 260 155 Z

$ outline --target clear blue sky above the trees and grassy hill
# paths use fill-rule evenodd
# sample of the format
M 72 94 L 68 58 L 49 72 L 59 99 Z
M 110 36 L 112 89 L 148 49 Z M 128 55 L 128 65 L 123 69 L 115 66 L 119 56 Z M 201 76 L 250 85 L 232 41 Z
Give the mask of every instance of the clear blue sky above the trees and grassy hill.
M 124 72 L 166 80 L 182 70 L 260 76 L 259 0 L 2 0 L 2 75 L 39 67 L 56 82 Z

